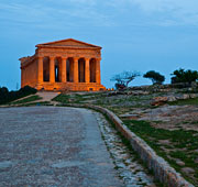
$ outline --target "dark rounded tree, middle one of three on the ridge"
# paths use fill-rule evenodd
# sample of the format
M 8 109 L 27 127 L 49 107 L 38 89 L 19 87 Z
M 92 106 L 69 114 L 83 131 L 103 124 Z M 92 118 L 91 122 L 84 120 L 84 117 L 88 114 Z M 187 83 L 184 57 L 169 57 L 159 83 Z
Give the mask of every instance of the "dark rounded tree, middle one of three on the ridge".
M 152 80 L 153 85 L 155 85 L 155 84 L 162 85 L 163 81 L 165 80 L 165 77 L 163 75 L 161 75 L 160 73 L 156 73 L 155 70 L 147 72 L 146 74 L 144 74 L 143 77 L 150 78 Z

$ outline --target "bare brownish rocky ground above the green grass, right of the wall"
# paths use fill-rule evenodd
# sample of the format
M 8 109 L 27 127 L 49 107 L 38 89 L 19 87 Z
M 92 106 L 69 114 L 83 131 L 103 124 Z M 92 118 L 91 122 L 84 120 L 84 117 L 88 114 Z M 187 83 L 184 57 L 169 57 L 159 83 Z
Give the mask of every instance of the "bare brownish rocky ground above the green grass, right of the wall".
M 120 118 L 150 121 L 158 129 L 198 131 L 198 106 L 162 106 L 154 109 L 134 109 Z

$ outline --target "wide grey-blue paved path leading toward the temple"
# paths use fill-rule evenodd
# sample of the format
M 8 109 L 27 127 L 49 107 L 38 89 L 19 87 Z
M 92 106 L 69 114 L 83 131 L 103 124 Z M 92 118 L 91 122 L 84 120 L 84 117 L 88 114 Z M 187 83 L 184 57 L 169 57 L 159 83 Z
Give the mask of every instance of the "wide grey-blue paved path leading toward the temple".
M 120 187 L 86 109 L 0 109 L 0 186 Z

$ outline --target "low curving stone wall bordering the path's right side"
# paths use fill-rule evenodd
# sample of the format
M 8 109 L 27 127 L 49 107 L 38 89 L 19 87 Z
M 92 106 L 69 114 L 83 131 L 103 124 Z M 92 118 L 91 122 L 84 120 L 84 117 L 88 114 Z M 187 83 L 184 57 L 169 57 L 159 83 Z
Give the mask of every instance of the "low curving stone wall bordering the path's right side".
M 177 173 L 169 164 L 162 157 L 157 156 L 153 148 L 151 148 L 142 139 L 131 132 L 124 123 L 110 110 L 90 106 L 90 105 L 69 105 L 70 107 L 86 107 L 108 116 L 108 118 L 116 124 L 118 131 L 128 139 L 131 146 L 139 153 L 141 160 L 147 165 L 148 169 L 154 172 L 155 179 L 168 187 L 194 187 L 194 185 L 186 182 L 179 173 Z

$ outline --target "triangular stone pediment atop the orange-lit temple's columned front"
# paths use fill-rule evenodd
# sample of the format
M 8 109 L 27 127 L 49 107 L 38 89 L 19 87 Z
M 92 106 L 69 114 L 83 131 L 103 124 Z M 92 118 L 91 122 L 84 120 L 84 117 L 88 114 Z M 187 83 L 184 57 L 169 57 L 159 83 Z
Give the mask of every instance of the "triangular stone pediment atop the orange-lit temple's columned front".
M 62 40 L 62 41 L 55 41 L 55 42 L 37 44 L 36 47 L 38 47 L 38 46 L 101 48 L 100 46 L 88 44 L 88 43 L 85 43 L 85 42 L 80 42 L 80 41 L 77 41 L 77 40 L 74 40 L 74 38 L 66 38 L 66 40 Z

